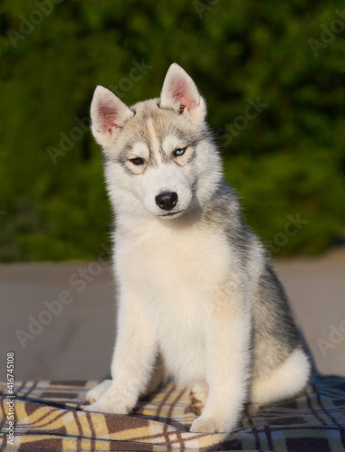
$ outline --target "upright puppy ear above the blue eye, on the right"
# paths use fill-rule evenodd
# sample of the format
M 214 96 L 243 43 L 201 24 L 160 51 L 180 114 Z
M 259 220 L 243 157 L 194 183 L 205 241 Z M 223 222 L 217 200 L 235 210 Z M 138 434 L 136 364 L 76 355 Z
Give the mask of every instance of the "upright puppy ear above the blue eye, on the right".
M 168 69 L 160 93 L 160 107 L 172 108 L 180 115 L 196 121 L 206 117 L 206 102 L 196 88 L 193 79 L 176 62 Z

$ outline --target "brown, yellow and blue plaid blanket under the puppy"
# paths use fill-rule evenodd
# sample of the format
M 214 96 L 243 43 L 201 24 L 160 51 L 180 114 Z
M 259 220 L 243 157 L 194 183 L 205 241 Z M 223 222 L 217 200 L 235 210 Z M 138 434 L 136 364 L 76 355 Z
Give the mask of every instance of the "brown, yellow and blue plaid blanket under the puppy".
M 3 451 L 345 450 L 345 379 L 316 376 L 299 398 L 264 407 L 247 405 L 230 434 L 195 434 L 184 387 L 169 384 L 140 400 L 130 416 L 82 411 L 98 381 L 28 381 L 14 386 L 14 405 L 1 392 Z M 13 443 L 8 414 L 14 413 Z

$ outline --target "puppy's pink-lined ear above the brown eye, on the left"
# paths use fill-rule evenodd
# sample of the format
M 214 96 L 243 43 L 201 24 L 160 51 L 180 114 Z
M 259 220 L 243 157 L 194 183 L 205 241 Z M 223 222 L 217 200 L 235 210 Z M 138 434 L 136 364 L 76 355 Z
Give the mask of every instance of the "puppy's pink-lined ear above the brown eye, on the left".
M 99 85 L 91 102 L 91 130 L 93 137 L 102 147 L 110 146 L 124 124 L 134 115 L 110 89 Z

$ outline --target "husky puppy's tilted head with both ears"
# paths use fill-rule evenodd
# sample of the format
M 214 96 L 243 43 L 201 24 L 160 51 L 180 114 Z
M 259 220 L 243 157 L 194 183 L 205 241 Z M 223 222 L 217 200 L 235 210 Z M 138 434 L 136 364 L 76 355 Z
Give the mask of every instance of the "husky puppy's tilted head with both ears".
M 91 129 L 104 151 L 117 212 L 172 219 L 209 199 L 220 162 L 205 118 L 205 100 L 176 63 L 159 99 L 128 107 L 109 89 L 97 87 Z

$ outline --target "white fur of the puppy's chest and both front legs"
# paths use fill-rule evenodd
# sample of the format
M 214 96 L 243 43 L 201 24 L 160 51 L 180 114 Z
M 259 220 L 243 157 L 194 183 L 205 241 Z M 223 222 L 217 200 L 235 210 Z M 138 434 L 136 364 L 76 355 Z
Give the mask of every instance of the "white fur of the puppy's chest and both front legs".
M 246 399 L 251 327 L 243 294 L 234 291 L 226 308 L 222 294 L 215 293 L 233 259 L 225 237 L 196 226 L 180 231 L 151 220 L 123 221 L 126 232 L 120 225 L 115 237 L 121 287 L 113 384 L 88 410 L 126 413 L 133 408 L 149 382 L 156 340 L 178 383 L 207 380 L 211 388 L 192 430 L 234 428 Z M 175 267 L 167 265 L 167 256 Z M 235 264 L 234 259 L 234 273 Z

